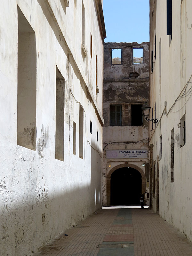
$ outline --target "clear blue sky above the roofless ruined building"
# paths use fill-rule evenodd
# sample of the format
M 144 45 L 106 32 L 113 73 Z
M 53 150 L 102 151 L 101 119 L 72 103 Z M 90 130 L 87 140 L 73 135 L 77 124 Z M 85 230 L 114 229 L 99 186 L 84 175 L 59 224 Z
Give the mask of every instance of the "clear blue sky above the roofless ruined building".
M 105 42 L 149 42 L 149 0 L 103 0 Z

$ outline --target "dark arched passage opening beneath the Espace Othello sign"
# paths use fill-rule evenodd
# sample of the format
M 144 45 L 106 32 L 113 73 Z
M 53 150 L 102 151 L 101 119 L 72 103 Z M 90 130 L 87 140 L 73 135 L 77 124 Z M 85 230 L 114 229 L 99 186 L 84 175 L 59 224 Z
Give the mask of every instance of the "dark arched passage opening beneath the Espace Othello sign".
M 141 174 L 134 168 L 119 168 L 111 174 L 111 204 L 140 204 Z

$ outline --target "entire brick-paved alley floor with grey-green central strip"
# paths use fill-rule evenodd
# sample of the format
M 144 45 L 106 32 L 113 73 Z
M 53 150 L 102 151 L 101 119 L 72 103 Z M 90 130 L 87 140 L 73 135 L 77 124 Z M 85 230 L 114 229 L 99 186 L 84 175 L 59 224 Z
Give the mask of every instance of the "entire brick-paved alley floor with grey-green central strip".
M 35 255 L 190 256 L 192 244 L 149 209 L 108 207 L 65 230 Z

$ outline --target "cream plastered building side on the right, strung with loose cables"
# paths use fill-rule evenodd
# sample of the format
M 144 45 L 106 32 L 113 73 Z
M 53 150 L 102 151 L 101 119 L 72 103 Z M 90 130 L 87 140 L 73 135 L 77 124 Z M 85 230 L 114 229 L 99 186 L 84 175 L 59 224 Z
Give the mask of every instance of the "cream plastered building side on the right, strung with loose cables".
M 192 240 L 192 1 L 150 1 L 150 206 Z

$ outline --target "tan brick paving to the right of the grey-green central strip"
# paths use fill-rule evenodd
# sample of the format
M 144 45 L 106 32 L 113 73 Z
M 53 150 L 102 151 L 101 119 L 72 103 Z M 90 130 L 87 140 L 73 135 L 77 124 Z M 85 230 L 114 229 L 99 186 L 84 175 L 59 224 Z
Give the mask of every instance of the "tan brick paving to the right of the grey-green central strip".
M 133 209 L 135 256 L 192 255 L 192 244 L 159 215 L 148 209 Z

